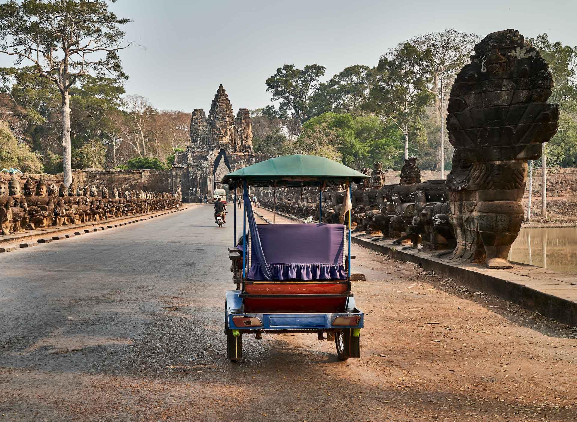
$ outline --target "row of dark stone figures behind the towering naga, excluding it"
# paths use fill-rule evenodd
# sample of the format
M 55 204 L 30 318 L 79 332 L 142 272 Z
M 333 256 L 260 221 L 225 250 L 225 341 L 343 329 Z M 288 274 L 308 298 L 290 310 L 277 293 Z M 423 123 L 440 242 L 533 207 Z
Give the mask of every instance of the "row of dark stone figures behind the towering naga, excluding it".
M 383 164 L 375 163 L 370 180 L 353 190 L 351 226 L 355 231 L 394 238 L 397 243 L 411 241 L 414 247 L 422 242 L 429 249 L 454 248 L 445 180 L 421 183 L 416 160 L 405 160 L 396 185 L 384 185 Z M 369 169 L 360 171 L 369 174 Z M 338 223 L 344 195 L 341 187 L 329 188 L 322 195 L 317 189 L 288 188 L 276 198 L 264 195 L 261 204 L 299 218 L 319 220 L 322 201 L 323 222 Z

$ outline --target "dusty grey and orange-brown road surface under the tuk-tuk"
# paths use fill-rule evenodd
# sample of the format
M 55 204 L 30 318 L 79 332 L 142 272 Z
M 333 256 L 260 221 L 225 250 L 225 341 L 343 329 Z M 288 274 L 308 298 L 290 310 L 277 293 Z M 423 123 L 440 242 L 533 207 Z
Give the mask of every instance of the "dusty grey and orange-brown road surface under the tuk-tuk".
M 361 359 L 293 334 L 228 362 L 229 211 L 1 254 L 0 421 L 575 420 L 571 328 L 357 247 Z

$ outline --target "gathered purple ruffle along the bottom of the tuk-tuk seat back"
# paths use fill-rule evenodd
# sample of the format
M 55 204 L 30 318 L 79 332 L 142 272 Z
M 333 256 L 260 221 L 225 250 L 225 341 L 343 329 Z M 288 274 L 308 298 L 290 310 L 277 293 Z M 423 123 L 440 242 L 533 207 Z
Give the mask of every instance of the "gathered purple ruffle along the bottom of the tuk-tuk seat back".
M 343 264 L 268 264 L 273 280 L 346 280 Z M 249 280 L 265 280 L 260 264 L 252 264 Z

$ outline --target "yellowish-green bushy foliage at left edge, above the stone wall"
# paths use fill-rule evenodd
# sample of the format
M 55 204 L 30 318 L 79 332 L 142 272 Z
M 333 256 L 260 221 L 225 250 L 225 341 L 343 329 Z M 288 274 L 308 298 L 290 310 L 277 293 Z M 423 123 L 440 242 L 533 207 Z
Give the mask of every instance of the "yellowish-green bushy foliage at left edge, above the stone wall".
M 42 172 L 42 162 L 30 147 L 18 142 L 8 124 L 0 121 L 0 168 L 16 168 L 23 173 Z

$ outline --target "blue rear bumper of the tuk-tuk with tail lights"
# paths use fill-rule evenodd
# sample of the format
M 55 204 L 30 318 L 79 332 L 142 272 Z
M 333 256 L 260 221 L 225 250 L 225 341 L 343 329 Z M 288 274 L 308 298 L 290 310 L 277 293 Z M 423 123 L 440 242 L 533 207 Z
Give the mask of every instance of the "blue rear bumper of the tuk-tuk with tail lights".
M 319 332 L 346 328 L 363 328 L 365 314 L 355 306 L 353 297 L 347 298 L 343 312 L 331 313 L 244 313 L 241 291 L 226 292 L 224 319 L 226 327 L 243 332 L 304 331 Z M 338 318 L 344 317 L 344 318 Z M 336 324 L 335 324 L 336 322 Z M 343 323 L 346 322 L 346 325 Z

